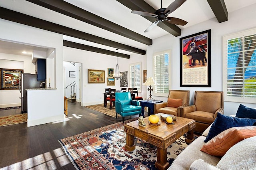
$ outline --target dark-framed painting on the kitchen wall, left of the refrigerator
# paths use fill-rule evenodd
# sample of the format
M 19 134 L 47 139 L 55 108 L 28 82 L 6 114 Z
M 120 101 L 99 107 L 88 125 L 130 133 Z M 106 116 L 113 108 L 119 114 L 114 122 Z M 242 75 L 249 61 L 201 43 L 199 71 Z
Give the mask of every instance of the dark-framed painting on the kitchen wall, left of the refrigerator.
M 23 73 L 21 69 L 0 69 L 1 80 L 0 90 L 19 89 L 20 76 Z

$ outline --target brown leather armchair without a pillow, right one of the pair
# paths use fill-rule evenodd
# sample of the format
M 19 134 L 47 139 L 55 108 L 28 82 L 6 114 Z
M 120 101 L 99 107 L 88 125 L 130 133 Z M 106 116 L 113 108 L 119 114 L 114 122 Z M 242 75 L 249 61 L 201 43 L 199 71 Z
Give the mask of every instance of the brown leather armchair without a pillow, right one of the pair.
M 217 113 L 224 113 L 222 91 L 195 91 L 194 105 L 181 108 L 181 116 L 196 121 L 195 132 L 202 133 L 216 119 Z

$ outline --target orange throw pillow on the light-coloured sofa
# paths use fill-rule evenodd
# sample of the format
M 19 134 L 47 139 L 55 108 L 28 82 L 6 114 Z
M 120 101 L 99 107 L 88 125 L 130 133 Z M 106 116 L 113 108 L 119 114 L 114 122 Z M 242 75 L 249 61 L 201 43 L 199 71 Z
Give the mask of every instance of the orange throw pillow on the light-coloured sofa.
M 224 156 L 229 148 L 252 136 L 256 136 L 256 127 L 254 126 L 232 127 L 209 140 L 202 146 L 201 151 L 213 156 Z

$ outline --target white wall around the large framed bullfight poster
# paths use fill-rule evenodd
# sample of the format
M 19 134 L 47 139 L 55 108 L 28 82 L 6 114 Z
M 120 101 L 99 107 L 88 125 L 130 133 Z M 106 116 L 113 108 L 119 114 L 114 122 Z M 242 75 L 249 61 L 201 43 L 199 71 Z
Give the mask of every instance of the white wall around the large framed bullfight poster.
M 155 52 L 171 50 L 171 82 L 170 89 L 190 90 L 190 104 L 194 100 L 194 91 L 223 91 L 222 87 L 222 36 L 248 30 L 256 27 L 256 4 L 242 8 L 228 14 L 228 21 L 218 23 L 216 18 L 202 22 L 195 26 L 182 30 L 182 36 L 174 37 L 170 34 L 153 40 L 153 45 L 147 48 L 147 70 L 148 77 L 152 76 L 152 56 Z M 200 18 L 199 18 L 200 19 Z M 180 87 L 180 38 L 211 29 L 211 67 L 212 87 Z M 168 42 L 168 43 L 166 43 Z M 166 97 L 156 97 L 167 101 Z M 256 108 L 256 104 L 241 103 L 248 107 Z M 235 115 L 240 103 L 224 102 L 224 114 Z

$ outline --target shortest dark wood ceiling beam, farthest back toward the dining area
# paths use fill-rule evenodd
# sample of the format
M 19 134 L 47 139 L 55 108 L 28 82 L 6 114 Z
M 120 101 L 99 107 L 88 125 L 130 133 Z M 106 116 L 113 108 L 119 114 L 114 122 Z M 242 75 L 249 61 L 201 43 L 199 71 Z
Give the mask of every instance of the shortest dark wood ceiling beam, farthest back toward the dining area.
M 63 46 L 130 59 L 130 55 L 63 40 Z

